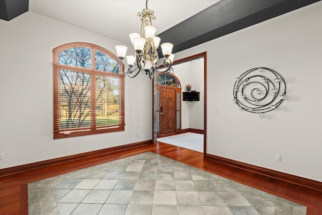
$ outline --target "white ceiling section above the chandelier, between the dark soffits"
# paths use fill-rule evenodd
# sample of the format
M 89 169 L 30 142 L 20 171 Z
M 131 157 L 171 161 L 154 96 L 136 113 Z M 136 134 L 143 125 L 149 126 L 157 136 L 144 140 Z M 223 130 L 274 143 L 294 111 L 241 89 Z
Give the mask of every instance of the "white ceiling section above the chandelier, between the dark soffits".
M 149 0 L 148 9 L 159 34 L 219 1 Z M 128 35 L 140 31 L 137 13 L 144 8 L 144 0 L 29 0 L 31 12 L 128 44 Z

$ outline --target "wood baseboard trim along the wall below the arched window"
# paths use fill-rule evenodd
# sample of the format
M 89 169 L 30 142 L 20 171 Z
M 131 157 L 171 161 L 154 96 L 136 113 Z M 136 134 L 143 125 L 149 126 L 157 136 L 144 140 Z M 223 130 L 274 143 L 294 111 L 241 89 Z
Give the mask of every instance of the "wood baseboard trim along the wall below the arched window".
M 39 169 L 51 165 L 56 165 L 56 164 L 61 164 L 65 162 L 70 162 L 70 161 L 76 161 L 80 159 L 87 159 L 90 157 L 94 156 L 106 156 L 107 154 L 120 151 L 120 150 L 126 150 L 134 147 L 140 147 L 144 145 L 149 145 L 152 144 L 152 140 L 145 140 L 141 142 L 135 142 L 133 144 L 127 144 L 127 145 L 122 145 L 122 146 L 117 146 L 117 147 L 111 147 L 107 149 L 102 149 L 102 150 L 96 150 L 96 151 L 91 151 L 91 152 L 86 152 L 86 153 L 81 153 L 81 154 L 76 154 L 76 155 L 70 155 L 70 156 L 65 156 L 65 157 L 60 157 L 60 158 L 54 158 L 50 160 L 45 160 L 45 161 L 39 161 L 35 163 L 30 163 L 30 164 L 24 164 L 20 166 L 15 166 L 15 167 L 9 167 L 9 168 L 4 168 L 0 169 L 0 178 L 17 174 L 17 173 L 22 173 L 34 169 Z

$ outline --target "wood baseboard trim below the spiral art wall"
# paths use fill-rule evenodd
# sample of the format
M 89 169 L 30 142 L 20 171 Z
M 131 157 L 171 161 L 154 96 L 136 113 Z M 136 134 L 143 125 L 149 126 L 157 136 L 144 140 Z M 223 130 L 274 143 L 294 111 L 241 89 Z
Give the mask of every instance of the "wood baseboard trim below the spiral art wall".
M 315 181 L 308 178 L 303 178 L 300 176 L 295 176 L 288 173 L 283 173 L 276 170 L 271 170 L 264 167 L 259 167 L 259 166 L 239 162 L 239 161 L 234 161 L 231 159 L 210 155 L 210 154 L 206 154 L 205 159 L 322 192 L 322 182 L 319 182 L 319 181 Z

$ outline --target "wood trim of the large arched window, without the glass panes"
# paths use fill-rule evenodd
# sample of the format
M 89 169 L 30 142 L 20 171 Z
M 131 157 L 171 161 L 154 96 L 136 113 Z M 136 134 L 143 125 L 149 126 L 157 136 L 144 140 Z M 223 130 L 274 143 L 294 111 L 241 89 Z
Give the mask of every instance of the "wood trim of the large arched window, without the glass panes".
M 64 65 L 58 63 L 58 52 L 73 48 L 73 47 L 87 47 L 92 49 L 92 68 L 84 68 L 78 66 L 71 66 L 71 65 Z M 73 42 L 73 43 L 66 43 L 60 45 L 53 49 L 53 137 L 54 139 L 57 138 L 66 138 L 66 137 L 73 137 L 73 136 L 83 136 L 83 135 L 90 135 L 90 134 L 98 134 L 98 133 L 109 133 L 109 132 L 116 132 L 116 131 L 124 131 L 125 130 L 125 111 L 124 111 L 124 88 L 125 88 L 125 75 L 124 74 L 115 74 L 110 73 L 108 71 L 100 71 L 95 70 L 93 67 L 95 66 L 95 50 L 101 51 L 111 57 L 119 64 L 120 71 L 124 71 L 124 64 L 121 63 L 120 59 L 113 54 L 111 51 L 92 44 L 92 43 L 85 43 L 85 42 Z M 59 70 L 66 69 L 75 72 L 87 73 L 91 74 L 91 127 L 80 127 L 80 128 L 67 128 L 67 129 L 60 129 L 59 128 Z M 108 77 L 116 77 L 119 78 L 119 118 L 120 123 L 117 125 L 110 125 L 110 126 L 95 126 L 96 120 L 96 75 L 101 76 L 108 76 Z M 93 76 L 95 78 L 93 78 Z M 111 128 L 108 128 L 111 127 Z M 69 131 L 73 131 L 68 133 Z M 63 132 L 63 133 L 62 133 Z M 66 133 L 67 132 L 67 133 Z

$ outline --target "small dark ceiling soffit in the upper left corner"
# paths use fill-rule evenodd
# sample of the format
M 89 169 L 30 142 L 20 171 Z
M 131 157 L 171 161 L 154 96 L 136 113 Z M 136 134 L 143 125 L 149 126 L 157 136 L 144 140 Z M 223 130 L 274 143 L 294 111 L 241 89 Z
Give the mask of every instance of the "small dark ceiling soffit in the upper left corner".
M 0 19 L 10 21 L 28 11 L 29 0 L 0 0 Z

